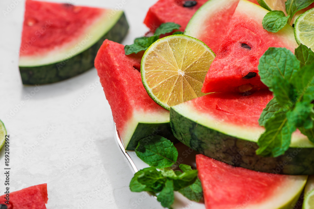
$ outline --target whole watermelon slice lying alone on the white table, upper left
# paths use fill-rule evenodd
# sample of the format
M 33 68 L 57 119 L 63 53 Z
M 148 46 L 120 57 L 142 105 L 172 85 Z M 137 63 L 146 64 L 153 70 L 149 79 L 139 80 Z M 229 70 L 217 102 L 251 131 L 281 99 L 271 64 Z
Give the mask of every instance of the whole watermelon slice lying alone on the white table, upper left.
M 127 30 L 122 11 L 27 0 L 19 51 L 23 84 L 57 82 L 91 69 L 102 42 L 120 42 Z

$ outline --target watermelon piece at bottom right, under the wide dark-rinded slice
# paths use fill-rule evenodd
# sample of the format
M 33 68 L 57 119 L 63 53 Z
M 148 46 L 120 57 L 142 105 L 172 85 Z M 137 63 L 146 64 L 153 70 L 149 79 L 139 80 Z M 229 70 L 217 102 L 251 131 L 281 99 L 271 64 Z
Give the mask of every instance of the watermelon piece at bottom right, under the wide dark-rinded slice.
M 290 209 L 307 176 L 275 175 L 248 170 L 196 155 L 206 209 Z

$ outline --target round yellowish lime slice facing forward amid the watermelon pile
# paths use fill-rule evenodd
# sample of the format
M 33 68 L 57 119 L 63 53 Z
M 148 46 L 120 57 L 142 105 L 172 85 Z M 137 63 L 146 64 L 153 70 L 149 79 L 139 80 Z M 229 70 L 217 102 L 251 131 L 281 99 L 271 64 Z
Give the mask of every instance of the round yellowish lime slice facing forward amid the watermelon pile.
M 166 36 L 143 55 L 143 85 L 157 104 L 170 110 L 205 95 L 201 89 L 214 57 L 214 52 L 198 39 L 181 34 Z

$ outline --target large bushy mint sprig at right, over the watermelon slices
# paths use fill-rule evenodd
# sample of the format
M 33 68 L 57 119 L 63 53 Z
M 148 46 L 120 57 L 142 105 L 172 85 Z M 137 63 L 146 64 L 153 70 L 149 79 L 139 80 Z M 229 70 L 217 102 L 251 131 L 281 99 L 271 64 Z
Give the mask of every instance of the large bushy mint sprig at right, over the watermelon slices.
M 304 45 L 295 51 L 300 60 L 285 48 L 269 48 L 259 60 L 261 81 L 274 95 L 259 119 L 266 130 L 256 153 L 265 157 L 284 154 L 297 128 L 314 142 L 313 52 Z

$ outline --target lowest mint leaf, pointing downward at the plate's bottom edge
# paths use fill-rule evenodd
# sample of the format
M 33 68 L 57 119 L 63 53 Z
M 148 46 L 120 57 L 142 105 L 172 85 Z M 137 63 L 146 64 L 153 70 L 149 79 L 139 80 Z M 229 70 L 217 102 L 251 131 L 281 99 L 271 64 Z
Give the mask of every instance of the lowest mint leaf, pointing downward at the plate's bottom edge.
M 171 208 L 171 205 L 175 200 L 173 182 L 171 180 L 166 181 L 164 188 L 157 195 L 157 200 L 160 201 L 160 204 L 163 207 Z

